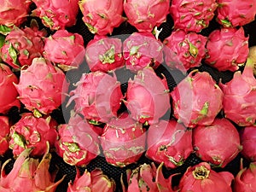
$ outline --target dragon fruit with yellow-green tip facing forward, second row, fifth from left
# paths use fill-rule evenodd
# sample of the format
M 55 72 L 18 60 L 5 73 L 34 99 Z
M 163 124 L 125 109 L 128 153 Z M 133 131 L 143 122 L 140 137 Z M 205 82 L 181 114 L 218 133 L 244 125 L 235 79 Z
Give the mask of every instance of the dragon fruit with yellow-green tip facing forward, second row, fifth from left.
M 195 32 L 177 30 L 164 40 L 166 65 L 185 73 L 189 68 L 200 67 L 205 58 L 207 38 Z

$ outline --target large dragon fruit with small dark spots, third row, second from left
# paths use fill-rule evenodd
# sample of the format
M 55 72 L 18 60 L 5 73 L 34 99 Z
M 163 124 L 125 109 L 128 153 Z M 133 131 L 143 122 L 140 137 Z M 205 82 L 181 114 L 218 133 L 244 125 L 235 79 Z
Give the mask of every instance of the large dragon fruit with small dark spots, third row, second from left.
M 25 107 L 35 116 L 51 113 L 61 105 L 67 91 L 65 74 L 43 57 L 35 58 L 32 65 L 22 68 L 20 82 L 15 84 Z

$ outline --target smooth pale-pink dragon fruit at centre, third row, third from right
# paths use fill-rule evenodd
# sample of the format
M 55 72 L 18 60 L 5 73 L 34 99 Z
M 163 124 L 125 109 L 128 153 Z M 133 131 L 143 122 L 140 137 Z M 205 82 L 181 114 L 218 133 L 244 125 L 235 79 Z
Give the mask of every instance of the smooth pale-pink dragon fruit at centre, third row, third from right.
M 153 68 L 145 67 L 128 81 L 125 106 L 131 117 L 152 125 L 170 111 L 170 94 L 166 79 L 160 79 Z

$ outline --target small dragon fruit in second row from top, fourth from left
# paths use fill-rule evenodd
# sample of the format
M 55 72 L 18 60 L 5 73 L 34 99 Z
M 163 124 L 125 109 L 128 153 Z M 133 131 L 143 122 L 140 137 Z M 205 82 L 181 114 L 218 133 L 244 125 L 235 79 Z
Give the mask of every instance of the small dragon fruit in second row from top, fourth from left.
M 132 72 L 144 67 L 157 68 L 164 61 L 163 44 L 149 32 L 132 33 L 125 39 L 123 47 L 126 68 Z

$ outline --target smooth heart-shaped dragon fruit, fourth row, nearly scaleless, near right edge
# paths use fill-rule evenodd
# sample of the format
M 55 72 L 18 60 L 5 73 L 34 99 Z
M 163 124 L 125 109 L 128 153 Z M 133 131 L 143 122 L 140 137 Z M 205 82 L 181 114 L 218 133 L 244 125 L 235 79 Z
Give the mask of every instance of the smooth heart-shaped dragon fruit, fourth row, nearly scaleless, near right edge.
M 219 167 L 234 160 L 242 149 L 239 133 L 228 119 L 215 119 L 212 125 L 197 126 L 192 140 L 195 154 Z

